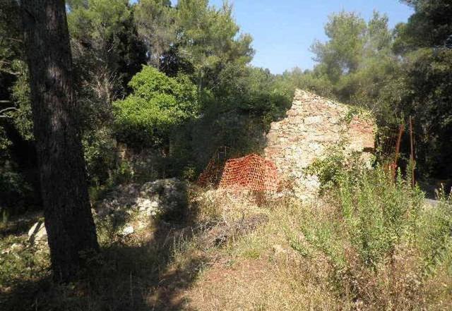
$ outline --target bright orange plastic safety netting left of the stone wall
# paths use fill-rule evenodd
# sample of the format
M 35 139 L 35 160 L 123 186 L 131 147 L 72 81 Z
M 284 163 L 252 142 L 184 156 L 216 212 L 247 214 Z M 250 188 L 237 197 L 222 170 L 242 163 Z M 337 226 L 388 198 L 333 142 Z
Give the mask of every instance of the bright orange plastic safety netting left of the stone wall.
M 276 192 L 278 170 L 272 161 L 257 154 L 249 154 L 226 161 L 219 188 Z

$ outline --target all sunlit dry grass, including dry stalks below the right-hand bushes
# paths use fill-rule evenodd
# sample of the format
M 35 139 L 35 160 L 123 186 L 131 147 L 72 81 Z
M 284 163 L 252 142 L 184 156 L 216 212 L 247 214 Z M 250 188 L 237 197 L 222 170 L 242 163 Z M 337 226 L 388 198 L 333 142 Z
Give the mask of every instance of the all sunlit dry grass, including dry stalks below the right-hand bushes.
M 450 271 L 426 275 L 410 243 L 371 269 L 340 232 L 338 207 L 286 198 L 251 209 L 270 221 L 215 251 L 185 293 L 194 310 L 450 310 Z M 311 228 L 332 233 L 316 242 L 304 235 Z

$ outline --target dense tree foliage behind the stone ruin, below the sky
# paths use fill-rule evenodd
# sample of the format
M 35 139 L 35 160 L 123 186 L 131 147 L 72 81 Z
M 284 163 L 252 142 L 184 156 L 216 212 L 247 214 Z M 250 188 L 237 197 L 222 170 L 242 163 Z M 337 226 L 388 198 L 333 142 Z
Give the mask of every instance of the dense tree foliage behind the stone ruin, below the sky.
M 252 38 L 240 32 L 227 2 L 67 1 L 91 184 L 112 183 L 133 166 L 119 159 L 119 145 L 150 148 L 154 177 L 190 171 L 194 178 L 220 146 L 234 154 L 256 151 L 270 121 L 290 106 L 295 87 L 371 109 L 388 128 L 412 116 L 422 177 L 448 178 L 452 6 L 405 2 L 414 13 L 394 29 L 378 12 L 369 20 L 333 13 L 325 25 L 328 39 L 311 47 L 316 66 L 273 75 L 250 65 Z M 15 176 L 2 177 L 2 188 L 26 205 L 30 193 L 39 193 L 28 68 L 18 3 L 0 4 L 0 168 L 2 176 Z M 25 180 L 27 186 L 18 187 Z

